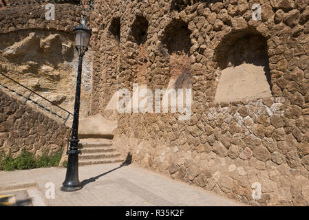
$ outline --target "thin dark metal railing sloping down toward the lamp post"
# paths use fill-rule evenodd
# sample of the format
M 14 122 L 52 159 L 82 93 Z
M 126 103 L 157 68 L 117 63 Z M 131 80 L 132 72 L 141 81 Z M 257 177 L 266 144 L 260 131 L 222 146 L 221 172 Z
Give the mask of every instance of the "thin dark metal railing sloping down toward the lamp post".
M 67 111 L 67 110 L 63 109 L 62 107 L 58 106 L 58 104 L 54 104 L 54 102 L 52 102 L 52 101 L 50 101 L 50 100 L 47 100 L 47 98 L 41 96 L 40 94 L 37 94 L 37 93 L 36 93 L 35 91 L 33 91 L 32 89 L 29 89 L 28 87 L 25 87 L 24 85 L 22 85 L 21 83 L 18 83 L 16 80 L 13 80 L 13 79 L 10 78 L 9 76 L 6 76 L 5 74 L 3 74 L 3 73 L 1 73 L 1 72 L 0 72 L 0 74 L 1 74 L 2 76 L 4 76 L 4 77 L 8 78 L 8 79 L 11 80 L 12 82 L 17 83 L 17 85 L 20 85 L 21 87 L 23 87 L 23 88 L 25 88 L 25 89 L 28 89 L 29 91 L 31 91 L 31 93 L 30 93 L 30 95 L 29 95 L 28 97 L 24 97 L 23 95 L 17 93 L 17 92 L 14 91 L 13 89 L 9 89 L 6 85 L 1 85 L 1 83 L 0 83 L 0 85 L 1 85 L 2 87 L 6 88 L 6 89 L 9 89 L 10 91 L 16 93 L 18 96 L 22 96 L 23 98 L 25 98 L 25 102 L 27 102 L 28 100 L 30 100 L 30 101 L 32 101 L 34 104 L 39 105 L 39 107 L 45 109 L 46 111 L 52 113 L 53 115 L 58 116 L 58 118 L 62 118 L 62 119 L 64 120 L 64 123 L 63 123 L 63 124 L 65 124 L 65 122 L 67 122 L 67 120 L 69 119 L 70 115 L 73 115 L 72 113 L 70 113 L 70 111 Z M 36 101 L 34 101 L 34 100 L 31 100 L 30 96 L 31 96 L 32 94 L 36 94 L 36 96 L 39 96 L 39 97 L 43 98 L 43 99 L 46 100 L 47 102 L 50 102 L 50 104 L 52 104 L 52 105 L 58 107 L 59 109 L 61 109 L 61 110 L 65 111 L 65 112 L 67 112 L 67 113 L 68 113 L 67 117 L 66 117 L 66 118 L 63 118 L 61 115 L 58 115 L 57 113 L 54 113 L 54 112 L 50 111 L 50 109 L 47 109 L 47 108 L 43 107 L 43 105 L 39 104 L 38 102 L 36 102 Z M 24 103 L 24 104 L 25 104 L 25 103 Z

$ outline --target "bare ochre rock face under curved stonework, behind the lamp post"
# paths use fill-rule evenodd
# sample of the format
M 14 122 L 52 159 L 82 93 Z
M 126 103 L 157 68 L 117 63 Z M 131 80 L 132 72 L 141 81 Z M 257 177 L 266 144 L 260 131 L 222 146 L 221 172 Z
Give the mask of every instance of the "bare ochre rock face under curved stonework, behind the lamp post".
M 58 30 L 19 30 L 0 34 L 0 72 L 36 91 L 54 104 L 72 111 L 78 59 L 74 50 L 74 34 Z M 83 62 L 81 115 L 87 115 L 91 92 L 92 51 Z M 1 83 L 20 94 L 29 91 L 2 79 Z M 42 105 L 48 104 L 38 96 L 31 97 Z M 58 109 L 51 107 L 58 113 Z

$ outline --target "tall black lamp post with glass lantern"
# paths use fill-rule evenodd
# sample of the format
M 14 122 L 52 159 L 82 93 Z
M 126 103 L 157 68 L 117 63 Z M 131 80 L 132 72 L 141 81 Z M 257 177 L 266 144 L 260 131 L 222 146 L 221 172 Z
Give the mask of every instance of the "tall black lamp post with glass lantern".
M 83 56 L 88 50 L 88 43 L 92 34 L 92 29 L 88 29 L 86 21 L 83 18 L 81 23 L 74 28 L 76 50 L 78 52 L 78 73 L 76 82 L 76 94 L 74 105 L 74 118 L 72 124 L 72 139 L 70 140 L 70 150 L 67 151 L 69 155 L 67 159 L 67 175 L 61 187 L 62 191 L 70 192 L 80 190 L 83 186 L 78 179 L 78 116 L 79 116 L 79 99 L 81 97 L 81 72 L 83 65 Z

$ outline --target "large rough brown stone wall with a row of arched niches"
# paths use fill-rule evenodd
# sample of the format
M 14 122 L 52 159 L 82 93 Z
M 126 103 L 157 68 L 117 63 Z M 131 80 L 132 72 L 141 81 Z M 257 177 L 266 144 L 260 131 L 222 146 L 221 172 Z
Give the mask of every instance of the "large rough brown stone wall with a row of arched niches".
M 176 69 L 180 75 L 189 72 L 191 119 L 180 121 L 178 113 L 119 114 L 115 142 L 123 155 L 131 153 L 140 166 L 251 205 L 308 206 L 309 2 L 187 2 L 95 1 L 92 113 L 104 113 L 118 88 L 131 90 L 133 83 L 167 88 L 173 61 L 188 58 L 189 69 Z M 260 21 L 252 18 L 254 3 L 262 5 Z M 229 63 L 241 64 L 235 60 L 242 56 L 233 59 L 230 52 L 242 48 L 231 50 L 232 45 L 247 36 L 265 42 L 269 97 L 217 102 L 222 71 Z M 250 64 L 248 52 L 244 63 Z

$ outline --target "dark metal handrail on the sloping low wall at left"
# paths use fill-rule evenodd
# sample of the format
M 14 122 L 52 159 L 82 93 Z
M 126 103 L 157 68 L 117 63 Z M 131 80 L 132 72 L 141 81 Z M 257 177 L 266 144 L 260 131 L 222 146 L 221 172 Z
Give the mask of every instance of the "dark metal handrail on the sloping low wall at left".
M 23 87 L 24 89 L 27 89 L 28 91 L 30 91 L 30 94 L 28 94 L 28 96 L 23 96 L 23 94 L 20 94 L 19 92 L 15 91 L 14 89 L 10 89 L 9 87 L 7 87 L 6 85 L 1 85 L 1 87 L 8 89 L 9 91 L 11 91 L 14 94 L 17 94 L 17 96 L 20 96 L 22 98 L 25 98 L 25 102 L 23 102 L 23 104 L 26 104 L 28 101 L 36 104 L 37 106 L 39 106 L 41 109 L 44 109 L 45 111 L 47 111 L 48 113 L 51 113 L 52 115 L 61 118 L 64 122 L 63 124 L 65 124 L 67 122 L 67 120 L 70 118 L 70 115 L 73 115 L 72 113 L 70 113 L 70 111 L 67 111 L 65 109 L 63 109 L 62 107 L 58 106 L 58 104 L 54 104 L 54 102 L 48 100 L 47 98 L 41 96 L 40 94 L 37 94 L 35 91 L 33 91 L 32 89 L 29 89 L 28 87 L 25 87 L 24 85 L 22 85 L 21 83 L 18 83 L 16 80 L 13 80 L 12 78 L 10 78 L 9 76 L 6 76 L 5 74 L 1 73 L 0 74 L 6 78 L 8 78 L 9 80 L 11 80 L 12 82 L 16 83 L 17 85 L 20 85 L 21 87 Z M 50 102 L 50 104 L 52 104 L 55 107 L 58 107 L 58 109 L 61 109 L 62 111 L 65 111 L 67 113 L 67 116 L 64 118 L 63 116 L 59 115 L 58 113 L 47 109 L 47 107 L 44 107 L 42 104 L 39 104 L 38 102 L 36 102 L 35 100 L 32 100 L 30 98 L 30 96 L 32 96 L 33 94 L 35 94 L 36 96 L 39 96 L 40 98 L 43 98 L 43 100 L 46 100 L 47 102 Z

